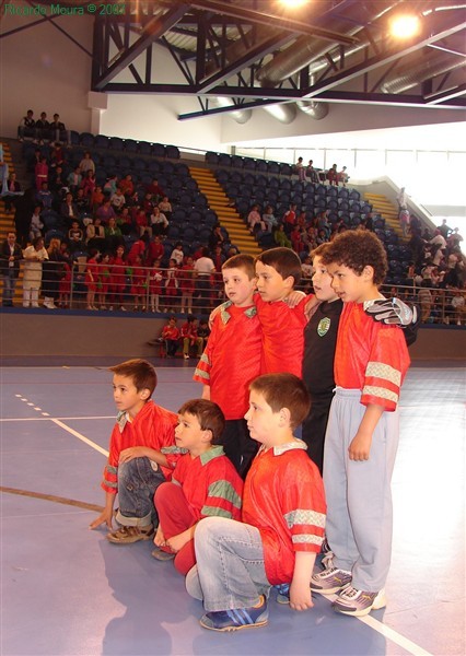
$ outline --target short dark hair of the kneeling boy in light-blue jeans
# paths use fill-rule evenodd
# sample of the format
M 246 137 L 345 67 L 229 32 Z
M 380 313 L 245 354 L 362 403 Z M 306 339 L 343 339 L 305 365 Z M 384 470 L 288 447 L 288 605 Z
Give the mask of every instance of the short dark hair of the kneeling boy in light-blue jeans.
M 263 395 L 273 412 L 288 408 L 292 429 L 299 426 L 308 414 L 308 391 L 301 378 L 294 374 L 264 374 L 251 383 L 249 390 Z

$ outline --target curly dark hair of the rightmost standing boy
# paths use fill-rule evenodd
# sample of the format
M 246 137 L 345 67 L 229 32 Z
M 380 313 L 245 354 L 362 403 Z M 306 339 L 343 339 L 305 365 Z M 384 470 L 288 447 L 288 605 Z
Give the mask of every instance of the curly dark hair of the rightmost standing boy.
M 322 256 L 324 265 L 342 265 L 361 276 L 364 267 L 374 269 L 374 284 L 382 284 L 388 270 L 380 238 L 366 230 L 348 230 L 330 242 Z

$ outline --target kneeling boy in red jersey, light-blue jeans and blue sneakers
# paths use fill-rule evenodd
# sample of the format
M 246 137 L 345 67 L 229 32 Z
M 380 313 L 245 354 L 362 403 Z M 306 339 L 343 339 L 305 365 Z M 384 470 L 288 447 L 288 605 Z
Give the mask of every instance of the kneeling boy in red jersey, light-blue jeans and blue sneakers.
M 266 596 L 290 584 L 290 606 L 312 608 L 310 582 L 325 525 L 321 475 L 293 430 L 310 397 L 293 374 L 266 374 L 251 384 L 246 413 L 261 446 L 246 478 L 243 523 L 208 517 L 195 535 L 197 569 L 186 585 L 202 598 L 203 628 L 235 631 L 267 623 Z

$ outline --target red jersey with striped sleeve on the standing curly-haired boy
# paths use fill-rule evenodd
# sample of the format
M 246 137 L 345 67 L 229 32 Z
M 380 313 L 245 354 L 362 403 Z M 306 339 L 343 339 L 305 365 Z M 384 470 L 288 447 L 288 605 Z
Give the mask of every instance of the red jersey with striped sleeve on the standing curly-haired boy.
M 345 303 L 334 365 L 339 387 L 361 389 L 362 405 L 393 411 L 409 363 L 403 330 L 374 321 L 363 303 Z

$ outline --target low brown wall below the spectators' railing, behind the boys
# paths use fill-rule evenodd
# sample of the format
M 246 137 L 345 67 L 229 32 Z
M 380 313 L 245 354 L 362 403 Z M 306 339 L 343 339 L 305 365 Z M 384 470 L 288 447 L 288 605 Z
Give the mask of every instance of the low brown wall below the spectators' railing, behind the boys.
M 0 312 L 0 353 L 4 356 L 101 355 L 116 358 L 154 356 L 147 341 L 158 337 L 163 318 L 113 316 L 98 313 Z M 453 360 L 466 355 L 466 330 L 426 326 L 409 349 L 412 361 Z

